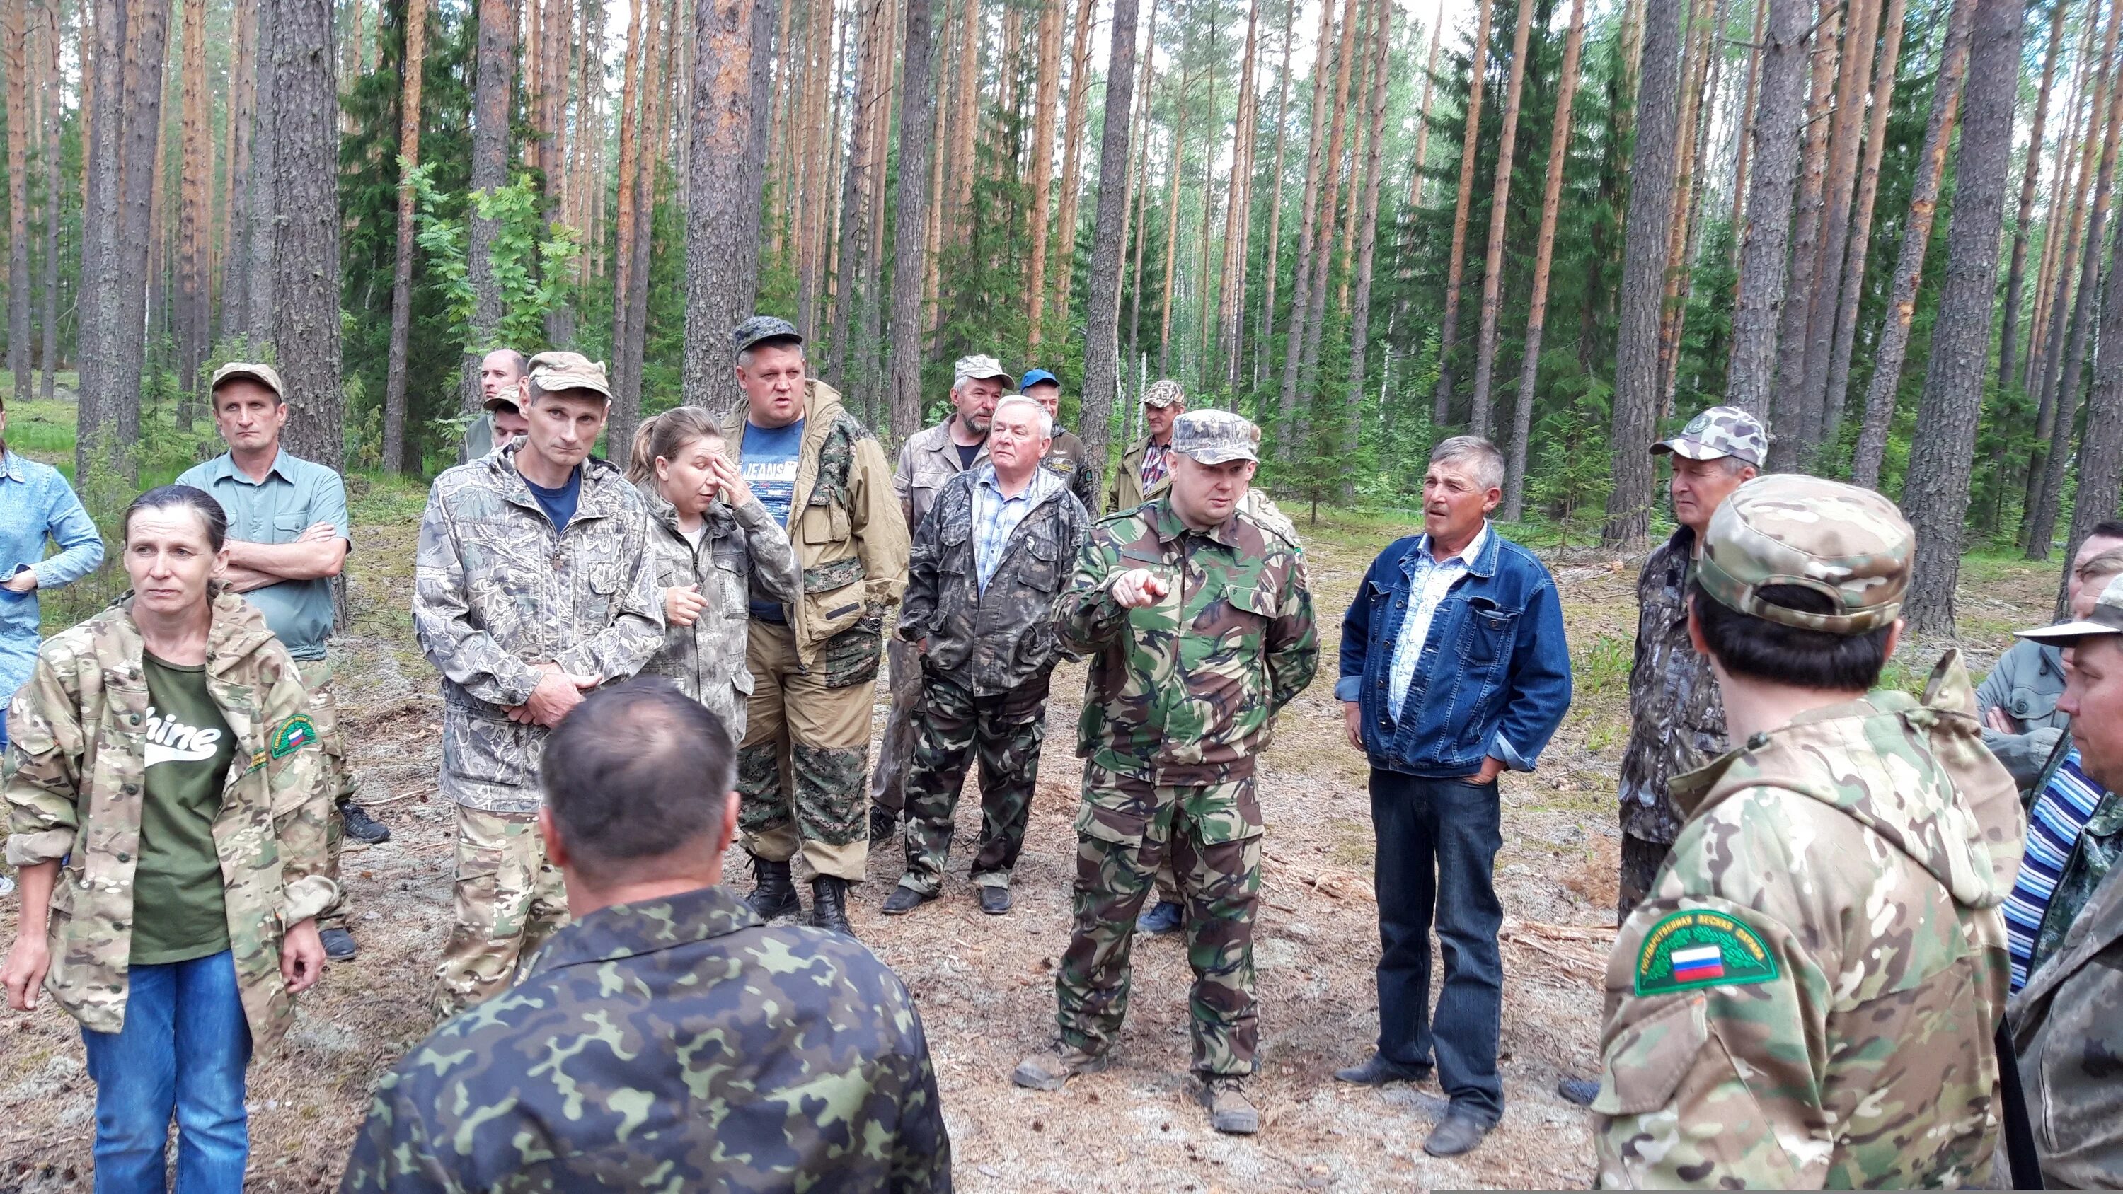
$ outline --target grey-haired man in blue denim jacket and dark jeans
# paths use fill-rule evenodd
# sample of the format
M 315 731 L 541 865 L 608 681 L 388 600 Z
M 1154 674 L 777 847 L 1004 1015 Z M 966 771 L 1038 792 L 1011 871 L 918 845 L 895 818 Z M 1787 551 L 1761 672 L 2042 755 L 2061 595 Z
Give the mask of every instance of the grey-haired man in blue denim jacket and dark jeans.
M 1497 445 L 1439 443 L 1422 477 L 1425 534 L 1371 562 L 1342 619 L 1335 698 L 1371 761 L 1382 948 L 1378 1052 L 1335 1077 L 1416 1082 L 1435 1054 L 1452 1105 L 1422 1145 L 1431 1156 L 1473 1149 L 1503 1116 L 1497 776 L 1533 770 L 1571 704 L 1556 583 L 1488 526 L 1501 486 Z M 1446 956 L 1435 1018 L 1433 912 Z

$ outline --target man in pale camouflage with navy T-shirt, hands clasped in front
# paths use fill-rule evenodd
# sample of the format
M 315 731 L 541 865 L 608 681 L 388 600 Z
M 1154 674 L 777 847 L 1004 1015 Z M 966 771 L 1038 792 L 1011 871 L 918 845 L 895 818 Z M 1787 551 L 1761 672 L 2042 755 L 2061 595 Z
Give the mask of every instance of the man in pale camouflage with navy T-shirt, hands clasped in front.
M 609 407 L 603 365 L 533 356 L 529 431 L 435 477 L 420 520 L 412 621 L 442 672 L 442 795 L 456 802 L 437 1020 L 510 986 L 567 920 L 537 836 L 546 734 L 662 647 L 648 507 L 590 456 Z

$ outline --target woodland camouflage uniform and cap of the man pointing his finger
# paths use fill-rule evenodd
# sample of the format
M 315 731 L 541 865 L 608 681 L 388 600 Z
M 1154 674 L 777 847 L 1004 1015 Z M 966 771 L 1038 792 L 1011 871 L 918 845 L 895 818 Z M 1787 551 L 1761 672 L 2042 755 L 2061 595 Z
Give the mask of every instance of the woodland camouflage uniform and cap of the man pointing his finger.
M 1115 604 L 1112 581 L 1132 568 L 1163 579 L 1166 598 Z M 1057 632 L 1064 649 L 1091 657 L 1076 744 L 1074 933 L 1055 971 L 1062 1043 L 1098 1056 L 1119 1037 L 1136 914 L 1170 855 L 1189 906 L 1193 1069 L 1253 1073 L 1265 831 L 1255 759 L 1318 668 L 1304 551 L 1244 513 L 1193 532 L 1168 494 L 1091 528 Z

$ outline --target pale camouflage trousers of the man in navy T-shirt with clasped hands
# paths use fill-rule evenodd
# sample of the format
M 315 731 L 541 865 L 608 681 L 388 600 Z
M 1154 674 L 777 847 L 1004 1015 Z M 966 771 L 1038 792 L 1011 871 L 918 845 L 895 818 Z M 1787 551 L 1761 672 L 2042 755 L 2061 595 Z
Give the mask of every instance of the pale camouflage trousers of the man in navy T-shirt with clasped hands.
M 546 937 L 567 925 L 560 870 L 546 861 L 535 812 L 456 806 L 456 925 L 435 967 L 435 1020 L 516 982 Z

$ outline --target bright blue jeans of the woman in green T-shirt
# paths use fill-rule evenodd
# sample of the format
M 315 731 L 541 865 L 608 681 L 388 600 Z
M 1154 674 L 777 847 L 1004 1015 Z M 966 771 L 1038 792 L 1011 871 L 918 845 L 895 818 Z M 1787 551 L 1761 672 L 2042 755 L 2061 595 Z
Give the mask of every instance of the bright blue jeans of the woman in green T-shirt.
M 234 954 L 136 965 L 127 986 L 125 1026 L 81 1033 L 96 1079 L 96 1194 L 168 1188 L 172 1111 L 176 1194 L 242 1190 L 251 1160 L 251 1024 L 236 993 Z

